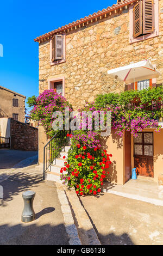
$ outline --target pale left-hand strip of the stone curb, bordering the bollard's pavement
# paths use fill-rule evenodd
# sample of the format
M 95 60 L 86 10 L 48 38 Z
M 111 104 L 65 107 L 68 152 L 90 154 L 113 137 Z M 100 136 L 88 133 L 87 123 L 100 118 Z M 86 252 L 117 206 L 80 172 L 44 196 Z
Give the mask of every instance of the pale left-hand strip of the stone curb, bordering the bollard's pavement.
M 66 233 L 69 237 L 69 245 L 82 245 L 78 236 L 78 230 L 74 224 L 71 208 L 68 203 L 64 187 L 58 182 L 55 182 L 55 186 L 57 187 L 58 198 L 61 204 L 61 211 L 64 216 Z

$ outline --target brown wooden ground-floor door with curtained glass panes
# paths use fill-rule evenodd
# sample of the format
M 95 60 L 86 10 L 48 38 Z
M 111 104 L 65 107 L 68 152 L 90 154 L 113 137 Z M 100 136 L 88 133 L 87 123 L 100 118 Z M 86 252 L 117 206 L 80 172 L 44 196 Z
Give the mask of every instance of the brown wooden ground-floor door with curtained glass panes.
M 153 177 L 153 132 L 139 132 L 134 138 L 134 167 L 141 176 Z

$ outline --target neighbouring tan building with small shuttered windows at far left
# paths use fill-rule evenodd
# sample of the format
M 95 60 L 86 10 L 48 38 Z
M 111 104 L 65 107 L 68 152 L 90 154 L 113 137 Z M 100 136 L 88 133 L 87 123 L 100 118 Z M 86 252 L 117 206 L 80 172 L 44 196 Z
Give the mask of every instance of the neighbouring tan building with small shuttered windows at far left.
M 0 86 L 0 118 L 10 117 L 24 123 L 25 100 L 26 96 Z

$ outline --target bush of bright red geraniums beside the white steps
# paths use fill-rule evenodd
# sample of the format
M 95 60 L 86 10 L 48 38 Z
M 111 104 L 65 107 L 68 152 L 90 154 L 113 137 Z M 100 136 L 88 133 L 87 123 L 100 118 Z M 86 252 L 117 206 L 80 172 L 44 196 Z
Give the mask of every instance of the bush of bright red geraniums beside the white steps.
M 82 145 L 79 141 L 76 146 L 74 148 L 76 154 L 73 157 L 68 155 L 68 160 L 64 162 L 65 166 L 60 170 L 61 177 L 67 175 L 67 180 L 62 179 L 69 180 L 68 185 L 74 186 L 79 196 L 87 193 L 96 196 L 101 192 L 100 186 L 103 186 L 106 177 L 105 169 L 111 163 L 111 154 L 106 154 L 106 150 L 102 151 L 99 147 L 90 149 L 88 145 Z M 63 158 L 65 159 L 66 156 Z M 64 174 L 64 170 L 67 170 L 67 174 Z

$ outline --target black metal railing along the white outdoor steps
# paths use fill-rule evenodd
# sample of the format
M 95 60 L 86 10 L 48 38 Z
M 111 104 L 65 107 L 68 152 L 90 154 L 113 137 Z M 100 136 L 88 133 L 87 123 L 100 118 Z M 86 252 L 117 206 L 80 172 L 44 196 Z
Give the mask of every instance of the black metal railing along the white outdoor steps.
M 55 159 L 70 141 L 67 133 L 69 131 L 58 131 L 43 148 L 43 180 L 45 180 L 45 174 L 48 168 L 56 161 Z

